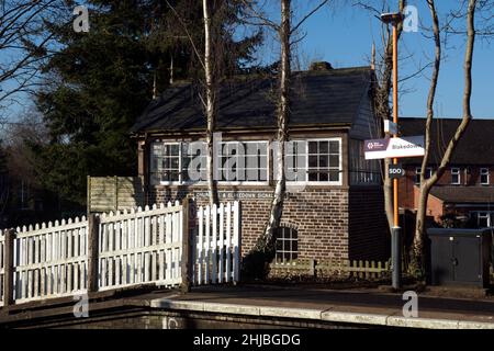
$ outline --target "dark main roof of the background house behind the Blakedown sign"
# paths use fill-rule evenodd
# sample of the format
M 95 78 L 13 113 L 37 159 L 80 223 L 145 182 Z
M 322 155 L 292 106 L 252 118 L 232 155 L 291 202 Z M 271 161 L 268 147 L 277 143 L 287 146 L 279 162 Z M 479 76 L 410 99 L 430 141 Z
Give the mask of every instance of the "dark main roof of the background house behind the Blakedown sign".
M 403 136 L 424 135 L 425 118 L 400 118 Z M 459 118 L 435 118 L 431 127 L 431 150 L 429 162 L 437 165 L 449 140 L 460 124 Z M 419 163 L 422 158 L 404 158 L 403 163 Z M 460 139 L 451 165 L 494 165 L 494 120 L 473 118 Z

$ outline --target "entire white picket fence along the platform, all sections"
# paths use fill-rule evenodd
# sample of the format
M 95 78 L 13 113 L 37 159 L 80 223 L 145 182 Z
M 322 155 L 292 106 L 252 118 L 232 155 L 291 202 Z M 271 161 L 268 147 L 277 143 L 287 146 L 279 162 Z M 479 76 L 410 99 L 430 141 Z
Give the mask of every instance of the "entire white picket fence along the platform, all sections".
M 187 207 L 188 210 L 188 207 Z M 179 202 L 98 216 L 98 290 L 182 282 L 184 207 Z M 192 284 L 237 282 L 240 261 L 239 203 L 198 210 L 191 238 Z M 80 295 L 88 290 L 86 217 L 16 228 L 13 298 L 24 303 Z M 4 231 L 0 230 L 0 306 L 3 305 Z

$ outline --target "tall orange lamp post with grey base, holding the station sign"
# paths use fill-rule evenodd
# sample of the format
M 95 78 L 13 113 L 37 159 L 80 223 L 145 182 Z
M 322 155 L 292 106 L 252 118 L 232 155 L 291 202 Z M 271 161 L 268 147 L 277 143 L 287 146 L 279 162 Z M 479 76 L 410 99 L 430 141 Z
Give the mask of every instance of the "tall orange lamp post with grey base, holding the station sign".
M 400 12 L 383 13 L 381 21 L 393 25 L 393 123 L 395 133 L 397 133 L 397 26 L 403 21 Z M 393 134 L 393 137 L 397 137 Z M 393 165 L 397 165 L 397 158 L 393 158 Z M 391 261 L 392 261 L 392 286 L 400 288 L 402 286 L 402 228 L 398 223 L 398 189 L 397 179 L 393 179 L 393 228 L 391 230 Z

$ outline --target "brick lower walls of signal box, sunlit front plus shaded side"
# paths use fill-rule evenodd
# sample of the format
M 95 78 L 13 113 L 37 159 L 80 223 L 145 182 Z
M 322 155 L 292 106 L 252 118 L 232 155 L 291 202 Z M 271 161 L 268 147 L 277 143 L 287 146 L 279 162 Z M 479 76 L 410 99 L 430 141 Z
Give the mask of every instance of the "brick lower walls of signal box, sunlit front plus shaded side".
M 269 186 L 237 186 L 236 190 L 272 191 Z M 181 200 L 189 191 L 186 186 L 156 186 L 149 203 Z M 194 186 L 194 191 L 205 190 Z M 206 202 L 201 197 L 195 205 L 205 205 Z M 245 256 L 262 234 L 271 201 L 240 202 L 242 250 Z M 351 191 L 344 186 L 307 186 L 304 191 L 288 195 L 281 222 L 297 229 L 300 259 L 383 260 L 389 251 L 383 208 L 379 186 L 360 186 Z

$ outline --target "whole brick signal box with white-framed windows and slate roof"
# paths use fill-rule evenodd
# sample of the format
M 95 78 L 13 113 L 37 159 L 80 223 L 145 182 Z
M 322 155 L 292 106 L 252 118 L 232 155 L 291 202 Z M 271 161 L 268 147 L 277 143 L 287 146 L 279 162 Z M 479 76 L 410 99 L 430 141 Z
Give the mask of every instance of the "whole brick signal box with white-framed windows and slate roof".
M 296 185 L 284 202 L 277 233 L 277 259 L 388 259 L 388 231 L 379 163 L 363 157 L 363 140 L 378 136 L 372 110 L 373 71 L 369 67 L 300 71 L 292 77 L 289 123 Z M 321 67 L 324 67 L 321 69 Z M 255 245 L 266 225 L 274 189 L 277 80 L 244 77 L 222 84 L 216 131 L 221 156 L 245 147 L 246 178 L 221 173 L 220 200 L 242 202 L 242 253 Z M 193 199 L 207 203 L 205 173 L 191 181 L 189 143 L 204 140 L 205 118 L 198 88 L 177 82 L 137 118 L 132 135 L 138 144 L 138 174 L 148 204 Z M 306 141 L 306 143 L 303 143 Z M 223 161 L 223 158 L 221 158 Z M 252 161 L 252 163 L 249 163 Z M 255 165 L 255 166 L 249 166 Z

